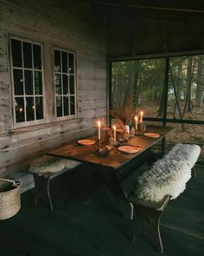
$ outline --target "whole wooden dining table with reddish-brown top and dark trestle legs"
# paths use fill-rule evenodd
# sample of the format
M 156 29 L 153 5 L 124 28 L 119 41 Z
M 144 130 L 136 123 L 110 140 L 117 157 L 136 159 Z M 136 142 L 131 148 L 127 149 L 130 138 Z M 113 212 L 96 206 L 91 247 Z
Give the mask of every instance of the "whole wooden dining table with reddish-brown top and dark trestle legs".
M 126 145 L 138 146 L 136 154 L 124 154 L 114 147 L 109 154 L 101 155 L 96 149 L 97 145 L 80 146 L 77 143 L 67 144 L 66 146 L 55 148 L 48 152 L 50 155 L 66 157 L 75 161 L 81 161 L 94 166 L 95 173 L 90 180 L 92 195 L 97 188 L 105 185 L 118 203 L 121 213 L 127 218 L 131 216 L 131 205 L 120 187 L 120 182 L 125 177 L 136 170 L 145 161 L 151 161 L 154 155 L 150 148 L 165 137 L 172 128 L 158 126 L 148 126 L 146 132 L 158 133 L 159 138 L 149 138 L 137 135 L 127 141 Z

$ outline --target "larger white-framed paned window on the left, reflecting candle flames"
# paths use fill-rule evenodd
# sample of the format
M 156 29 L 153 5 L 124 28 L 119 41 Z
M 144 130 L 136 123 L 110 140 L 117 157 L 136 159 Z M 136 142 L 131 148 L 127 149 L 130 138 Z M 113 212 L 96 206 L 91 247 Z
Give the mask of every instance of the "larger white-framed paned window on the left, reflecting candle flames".
M 44 82 L 41 43 L 10 36 L 14 126 L 44 122 Z

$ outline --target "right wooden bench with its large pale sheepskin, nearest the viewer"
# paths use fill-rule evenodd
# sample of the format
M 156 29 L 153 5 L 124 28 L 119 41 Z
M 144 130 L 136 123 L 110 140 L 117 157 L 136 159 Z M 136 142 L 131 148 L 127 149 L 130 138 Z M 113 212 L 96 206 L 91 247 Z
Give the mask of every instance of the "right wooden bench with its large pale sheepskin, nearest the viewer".
M 200 153 L 197 145 L 177 144 L 137 178 L 135 190 L 129 196 L 134 206 L 133 240 L 139 233 L 151 230 L 158 252 L 163 253 L 161 215 L 169 200 L 184 191 Z

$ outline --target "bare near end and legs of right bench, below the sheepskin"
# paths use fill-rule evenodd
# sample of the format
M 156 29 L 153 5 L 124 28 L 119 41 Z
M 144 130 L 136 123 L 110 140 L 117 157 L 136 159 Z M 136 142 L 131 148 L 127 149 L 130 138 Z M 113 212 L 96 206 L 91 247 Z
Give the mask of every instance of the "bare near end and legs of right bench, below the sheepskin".
M 133 215 L 133 241 L 137 235 L 149 231 L 156 240 L 156 247 L 159 253 L 163 253 L 163 242 L 160 234 L 161 215 L 169 202 L 169 195 L 164 196 L 163 200 L 145 201 L 136 199 L 134 195 L 130 196 L 130 201 L 134 205 Z

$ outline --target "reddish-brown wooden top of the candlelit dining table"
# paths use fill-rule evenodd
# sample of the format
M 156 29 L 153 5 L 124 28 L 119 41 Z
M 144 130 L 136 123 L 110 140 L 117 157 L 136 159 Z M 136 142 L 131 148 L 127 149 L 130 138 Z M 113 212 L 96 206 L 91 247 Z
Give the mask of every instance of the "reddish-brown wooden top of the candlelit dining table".
M 160 135 L 158 138 L 150 138 L 144 135 L 137 135 L 128 140 L 125 145 L 132 145 L 138 147 L 137 153 L 125 154 L 118 150 L 118 147 L 113 147 L 108 154 L 102 154 L 97 151 L 96 144 L 90 146 L 81 146 L 78 143 L 67 144 L 60 148 L 54 148 L 48 154 L 54 156 L 66 157 L 71 160 L 88 162 L 92 164 L 102 165 L 106 167 L 118 168 L 122 167 L 126 162 L 142 154 L 144 151 L 152 147 L 156 142 L 165 137 L 172 128 L 161 126 L 148 126 L 145 133 L 157 133 Z M 90 139 L 90 138 L 89 138 Z M 91 139 L 96 139 L 92 137 Z M 102 147 L 105 145 L 102 145 Z

